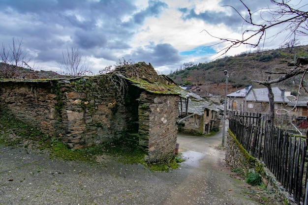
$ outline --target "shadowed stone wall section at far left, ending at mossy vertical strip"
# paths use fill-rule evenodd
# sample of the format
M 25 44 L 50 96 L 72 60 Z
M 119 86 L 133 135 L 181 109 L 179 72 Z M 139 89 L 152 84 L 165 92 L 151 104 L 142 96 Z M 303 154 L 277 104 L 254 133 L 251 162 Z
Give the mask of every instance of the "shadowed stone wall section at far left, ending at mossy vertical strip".
M 40 131 L 54 136 L 63 126 L 52 92 L 55 81 L 4 81 L 0 84 L 0 109 L 14 114 Z

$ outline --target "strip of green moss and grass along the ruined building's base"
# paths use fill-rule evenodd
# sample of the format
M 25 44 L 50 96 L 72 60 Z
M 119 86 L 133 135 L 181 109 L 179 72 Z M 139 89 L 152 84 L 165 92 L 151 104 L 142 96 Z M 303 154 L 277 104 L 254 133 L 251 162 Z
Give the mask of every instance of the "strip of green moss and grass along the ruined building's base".
M 101 126 L 101 123 L 97 123 L 97 126 Z M 9 137 L 12 132 L 18 133 L 15 138 Z M 25 142 L 27 143 L 24 144 Z M 147 153 L 138 146 L 136 141 L 125 140 L 124 136 L 118 140 L 84 149 L 70 149 L 60 139 L 51 138 L 3 111 L 0 111 L 0 144 L 23 146 L 24 148 L 29 148 L 29 145 L 33 144 L 40 150 L 49 150 L 51 158 L 62 158 L 64 160 L 95 162 L 96 156 L 107 154 L 122 163 L 143 164 L 154 171 L 177 169 L 180 166 L 179 163 L 182 162 L 179 155 L 168 164 L 147 164 L 145 161 Z

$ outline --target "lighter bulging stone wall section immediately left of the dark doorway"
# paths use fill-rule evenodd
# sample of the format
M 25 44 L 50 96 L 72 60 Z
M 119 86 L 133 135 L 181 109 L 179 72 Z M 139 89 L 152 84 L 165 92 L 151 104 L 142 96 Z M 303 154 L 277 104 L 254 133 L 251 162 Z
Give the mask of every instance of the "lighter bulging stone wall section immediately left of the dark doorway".
M 130 126 L 130 106 L 126 107 L 107 75 L 64 82 L 61 118 L 65 127 L 62 141 L 69 147 L 83 148 L 120 138 Z M 59 102 L 58 102 L 59 103 Z

